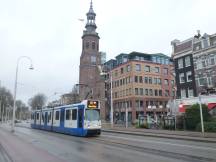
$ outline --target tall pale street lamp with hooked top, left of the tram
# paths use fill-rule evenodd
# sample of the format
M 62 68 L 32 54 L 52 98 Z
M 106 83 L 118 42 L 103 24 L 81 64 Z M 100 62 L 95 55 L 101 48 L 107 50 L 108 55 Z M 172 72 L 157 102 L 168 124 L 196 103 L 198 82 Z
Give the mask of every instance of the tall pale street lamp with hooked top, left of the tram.
M 16 76 L 15 76 L 15 86 L 14 86 L 14 103 L 13 103 L 13 118 L 12 118 L 12 128 L 11 128 L 11 131 L 14 132 L 14 121 L 15 121 L 15 110 L 16 110 L 16 93 L 17 93 L 17 78 L 18 78 L 18 69 L 19 69 L 19 62 L 21 59 L 23 58 L 26 58 L 30 61 L 30 67 L 29 69 L 30 70 L 33 70 L 33 64 L 32 64 L 32 59 L 28 56 L 20 56 L 18 59 L 17 59 L 17 65 L 16 65 Z

